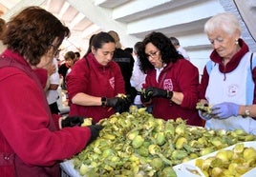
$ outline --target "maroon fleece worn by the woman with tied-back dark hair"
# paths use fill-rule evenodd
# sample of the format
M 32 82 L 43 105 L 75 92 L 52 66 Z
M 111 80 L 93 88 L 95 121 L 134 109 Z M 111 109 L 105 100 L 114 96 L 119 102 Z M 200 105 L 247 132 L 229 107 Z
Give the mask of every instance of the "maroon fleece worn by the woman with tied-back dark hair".
M 102 66 L 92 53 L 75 63 L 66 77 L 66 83 L 70 100 L 79 92 L 106 98 L 125 93 L 124 80 L 117 63 L 111 61 L 108 66 Z M 109 107 L 84 107 L 71 103 L 70 115 L 92 117 L 95 122 L 114 113 L 114 109 Z

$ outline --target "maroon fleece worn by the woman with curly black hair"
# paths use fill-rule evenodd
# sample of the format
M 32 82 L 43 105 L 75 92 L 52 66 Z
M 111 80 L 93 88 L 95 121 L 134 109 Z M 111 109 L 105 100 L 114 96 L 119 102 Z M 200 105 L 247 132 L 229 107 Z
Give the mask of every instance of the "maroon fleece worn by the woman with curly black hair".
M 160 72 L 159 83 L 156 81 L 156 69 L 147 73 L 143 88 L 155 87 L 170 91 L 182 92 L 184 95 L 181 105 L 166 98 L 152 99 L 153 115 L 164 120 L 181 117 L 188 125 L 202 126 L 196 104 L 198 102 L 199 71 L 189 61 L 180 59 L 169 63 Z

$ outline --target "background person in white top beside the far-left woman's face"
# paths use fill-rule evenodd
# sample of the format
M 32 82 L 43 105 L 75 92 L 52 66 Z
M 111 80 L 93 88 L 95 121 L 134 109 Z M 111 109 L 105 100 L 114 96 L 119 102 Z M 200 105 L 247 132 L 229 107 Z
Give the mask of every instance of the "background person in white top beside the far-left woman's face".
M 56 52 L 54 53 L 53 67 L 55 70 L 52 74 L 49 74 L 50 85 L 46 91 L 47 102 L 53 114 L 59 114 L 60 112 L 57 105 L 57 100 L 59 98 L 57 89 L 60 82 L 59 73 L 58 73 L 58 64 L 57 64 L 57 58 L 59 58 L 59 51 L 60 49 L 57 49 Z

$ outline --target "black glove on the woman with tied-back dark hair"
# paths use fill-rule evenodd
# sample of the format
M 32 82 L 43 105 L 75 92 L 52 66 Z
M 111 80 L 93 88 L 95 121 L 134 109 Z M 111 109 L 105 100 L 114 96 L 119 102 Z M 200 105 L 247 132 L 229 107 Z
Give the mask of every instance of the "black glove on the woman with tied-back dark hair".
M 130 96 L 107 98 L 106 106 L 115 108 L 119 113 L 128 111 L 131 106 Z

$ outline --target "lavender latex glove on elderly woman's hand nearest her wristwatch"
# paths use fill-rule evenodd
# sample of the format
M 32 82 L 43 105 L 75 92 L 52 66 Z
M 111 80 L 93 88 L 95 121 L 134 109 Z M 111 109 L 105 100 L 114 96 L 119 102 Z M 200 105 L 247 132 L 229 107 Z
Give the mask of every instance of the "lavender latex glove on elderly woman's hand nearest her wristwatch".
M 226 119 L 230 116 L 237 116 L 239 112 L 239 105 L 234 103 L 221 103 L 218 105 L 213 106 L 212 113 L 214 116 L 218 117 L 219 119 Z

